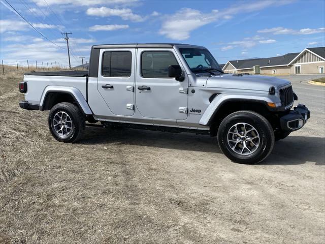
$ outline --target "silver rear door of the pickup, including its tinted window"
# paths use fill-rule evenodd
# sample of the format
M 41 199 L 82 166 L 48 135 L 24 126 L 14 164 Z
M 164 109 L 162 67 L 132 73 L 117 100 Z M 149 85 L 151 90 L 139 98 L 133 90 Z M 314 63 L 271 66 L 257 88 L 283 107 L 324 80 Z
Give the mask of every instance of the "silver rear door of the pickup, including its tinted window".
M 97 89 L 107 106 L 104 115 L 134 114 L 135 49 L 101 49 Z

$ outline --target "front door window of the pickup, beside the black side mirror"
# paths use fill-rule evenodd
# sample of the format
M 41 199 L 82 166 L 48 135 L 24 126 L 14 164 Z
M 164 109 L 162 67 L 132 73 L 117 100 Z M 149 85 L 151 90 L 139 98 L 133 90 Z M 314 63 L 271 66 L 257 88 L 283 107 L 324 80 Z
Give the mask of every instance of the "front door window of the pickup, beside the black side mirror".
M 178 65 L 172 52 L 145 51 L 141 54 L 141 75 L 144 78 L 170 78 L 170 65 Z

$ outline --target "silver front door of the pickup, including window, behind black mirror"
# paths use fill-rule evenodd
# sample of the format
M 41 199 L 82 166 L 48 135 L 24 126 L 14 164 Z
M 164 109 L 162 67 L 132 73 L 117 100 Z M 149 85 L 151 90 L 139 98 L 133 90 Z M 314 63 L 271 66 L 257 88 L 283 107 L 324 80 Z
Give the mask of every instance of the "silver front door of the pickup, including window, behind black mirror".
M 174 49 L 138 49 L 136 107 L 143 117 L 187 118 L 188 78 Z M 180 65 L 184 81 L 168 76 L 170 65 Z M 176 123 L 176 121 L 175 121 Z

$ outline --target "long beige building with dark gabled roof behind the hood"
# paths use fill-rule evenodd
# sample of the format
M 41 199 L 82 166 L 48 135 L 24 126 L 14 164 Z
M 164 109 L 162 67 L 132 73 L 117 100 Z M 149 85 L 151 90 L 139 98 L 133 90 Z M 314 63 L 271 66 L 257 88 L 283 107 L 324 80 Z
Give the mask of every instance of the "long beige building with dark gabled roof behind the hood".
M 306 48 L 282 56 L 228 61 L 225 73 L 249 74 L 324 74 L 325 47 Z

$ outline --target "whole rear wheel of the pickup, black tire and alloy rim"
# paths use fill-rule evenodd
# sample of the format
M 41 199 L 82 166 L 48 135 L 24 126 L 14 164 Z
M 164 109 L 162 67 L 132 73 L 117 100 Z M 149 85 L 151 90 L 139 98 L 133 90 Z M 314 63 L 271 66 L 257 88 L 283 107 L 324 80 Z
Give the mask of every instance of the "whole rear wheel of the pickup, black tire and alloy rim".
M 49 113 L 49 129 L 53 137 L 62 142 L 76 142 L 85 131 L 85 117 L 72 103 L 58 103 Z

